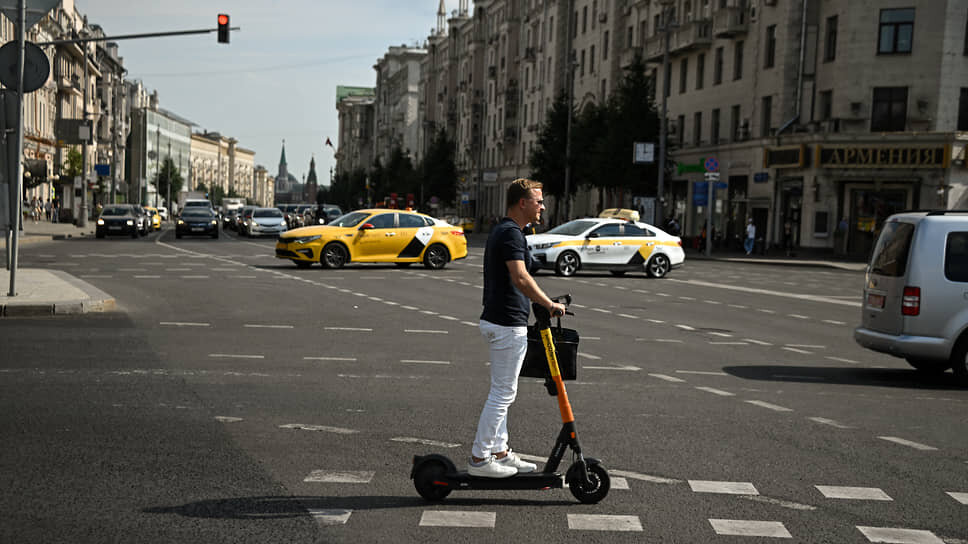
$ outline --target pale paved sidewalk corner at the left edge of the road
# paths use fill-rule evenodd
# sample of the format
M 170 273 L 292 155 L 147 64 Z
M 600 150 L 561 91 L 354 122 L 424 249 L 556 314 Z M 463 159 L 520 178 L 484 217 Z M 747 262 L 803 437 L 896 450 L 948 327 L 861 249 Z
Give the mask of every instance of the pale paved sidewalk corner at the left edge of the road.
M 18 241 L 19 255 L 26 247 L 55 240 L 93 237 L 94 225 L 79 229 L 69 223 L 24 223 Z M 6 256 L 6 238 L 0 242 Z M 36 317 L 70 315 L 87 312 L 109 312 L 117 308 L 114 297 L 61 270 L 18 268 L 15 276 L 16 296 L 10 292 L 10 271 L 0 264 L 0 317 Z

